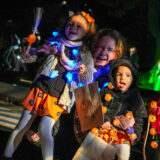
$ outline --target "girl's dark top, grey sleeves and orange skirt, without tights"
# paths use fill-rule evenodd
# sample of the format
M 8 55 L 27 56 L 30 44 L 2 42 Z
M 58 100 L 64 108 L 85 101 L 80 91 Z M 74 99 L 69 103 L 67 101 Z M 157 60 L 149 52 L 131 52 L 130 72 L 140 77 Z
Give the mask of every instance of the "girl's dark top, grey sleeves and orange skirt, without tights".
M 30 111 L 36 111 L 40 116 L 49 114 L 55 120 L 58 119 L 64 110 L 70 112 L 72 106 L 70 106 L 70 104 L 72 103 L 73 96 L 72 90 L 78 87 L 78 83 L 81 81 L 82 84 L 86 84 L 91 82 L 93 79 L 92 57 L 88 52 L 82 52 L 81 54 L 82 42 L 70 43 L 70 41 L 66 40 L 65 38 L 59 38 L 59 41 L 66 45 L 65 52 L 67 57 L 75 60 L 78 65 L 82 63 L 85 64 L 87 66 L 87 72 L 81 76 L 78 76 L 78 74 L 75 74 L 74 72 L 74 82 L 67 83 L 67 69 L 64 68 L 64 65 L 66 64 L 61 64 L 59 57 L 55 55 L 49 55 L 47 58 L 47 60 L 49 60 L 48 63 L 46 63 L 44 66 L 42 65 L 42 68 L 40 69 L 41 75 L 35 81 L 34 89 L 32 89 L 30 94 L 22 103 Z M 70 52 L 75 48 L 78 49 L 80 53 L 74 57 L 74 55 L 72 55 Z M 58 76 L 50 78 L 49 74 L 51 71 L 58 71 Z M 52 113 L 53 105 L 54 108 L 57 108 L 55 109 L 55 113 Z

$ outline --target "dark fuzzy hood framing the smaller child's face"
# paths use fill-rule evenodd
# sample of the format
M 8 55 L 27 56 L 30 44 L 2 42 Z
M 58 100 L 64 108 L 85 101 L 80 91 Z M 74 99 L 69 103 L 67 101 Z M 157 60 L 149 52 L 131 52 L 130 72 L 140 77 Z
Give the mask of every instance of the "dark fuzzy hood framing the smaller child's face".
M 133 75 L 133 81 L 132 84 L 130 86 L 137 88 L 138 85 L 138 65 L 135 64 L 134 62 L 132 62 L 131 59 L 129 59 L 128 57 L 121 57 L 117 60 L 111 60 L 109 62 L 110 65 L 110 71 L 109 71 L 109 79 L 112 82 L 113 86 L 115 89 L 117 89 L 116 85 L 115 85 L 115 72 L 118 66 L 126 66 L 128 68 L 130 68 L 132 75 Z

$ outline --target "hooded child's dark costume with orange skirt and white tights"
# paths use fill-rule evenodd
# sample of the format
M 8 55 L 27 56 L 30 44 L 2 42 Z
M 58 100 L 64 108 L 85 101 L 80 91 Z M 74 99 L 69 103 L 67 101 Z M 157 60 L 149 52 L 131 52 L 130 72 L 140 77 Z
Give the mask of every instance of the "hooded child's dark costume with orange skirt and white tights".
M 111 68 L 109 72 L 109 78 L 114 88 L 109 89 L 110 87 L 108 86 L 108 87 L 103 88 L 101 91 L 103 106 L 107 106 L 108 108 L 107 113 L 104 114 L 104 122 L 109 121 L 112 124 L 115 116 L 117 115 L 125 116 L 125 114 L 128 111 L 131 111 L 135 119 L 135 124 L 133 128 L 134 128 L 134 133 L 136 133 L 137 135 L 137 139 L 135 141 L 136 143 L 137 141 L 140 140 L 140 137 L 141 137 L 141 133 L 143 130 L 143 120 L 144 118 L 147 118 L 147 112 L 144 107 L 143 100 L 139 92 L 137 91 L 137 83 L 138 83 L 137 70 L 130 63 L 129 60 L 123 59 L 123 58 L 120 58 L 115 61 L 111 61 L 110 66 Z M 115 85 L 114 76 L 115 76 L 116 68 L 118 66 L 127 66 L 131 70 L 132 75 L 133 75 L 132 85 L 124 93 L 120 92 Z M 111 96 L 110 100 L 106 100 L 106 97 L 105 97 L 106 94 L 109 94 Z M 118 126 L 115 128 L 118 129 L 118 139 L 114 139 L 115 137 L 112 138 L 110 134 L 109 134 L 110 137 L 106 139 L 104 136 L 105 131 L 102 131 L 101 133 L 101 129 L 99 130 L 97 134 L 98 136 L 93 136 L 93 134 L 89 132 L 89 134 L 87 135 L 85 139 L 84 139 L 85 136 L 82 136 L 82 133 L 81 133 L 80 136 L 81 138 L 84 139 L 84 141 L 82 142 L 83 139 L 81 139 L 82 147 L 78 149 L 73 160 L 80 160 L 82 157 L 83 158 L 85 157 L 86 159 L 88 158 L 87 160 L 90 160 L 90 159 L 92 160 L 96 160 L 96 159 L 111 160 L 111 159 L 114 159 L 114 156 L 116 154 L 118 155 L 119 159 L 123 159 L 123 160 L 129 159 L 130 147 L 128 145 L 129 143 L 126 143 L 126 141 L 129 140 L 129 138 L 126 139 L 125 141 L 122 141 L 124 137 L 119 136 L 120 135 L 119 133 L 124 132 L 125 134 L 125 130 L 119 128 Z M 102 138 L 100 138 L 101 135 L 103 136 Z M 128 137 L 127 134 L 126 134 L 126 137 Z M 98 146 L 101 146 L 101 147 L 98 147 Z

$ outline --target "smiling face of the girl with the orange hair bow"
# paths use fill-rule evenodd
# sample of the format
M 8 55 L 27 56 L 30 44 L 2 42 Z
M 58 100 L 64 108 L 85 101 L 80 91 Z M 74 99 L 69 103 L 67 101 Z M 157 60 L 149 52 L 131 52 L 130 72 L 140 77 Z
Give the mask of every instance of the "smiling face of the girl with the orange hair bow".
M 73 16 L 65 28 L 65 35 L 70 41 L 81 40 L 87 32 L 87 21 L 80 15 Z

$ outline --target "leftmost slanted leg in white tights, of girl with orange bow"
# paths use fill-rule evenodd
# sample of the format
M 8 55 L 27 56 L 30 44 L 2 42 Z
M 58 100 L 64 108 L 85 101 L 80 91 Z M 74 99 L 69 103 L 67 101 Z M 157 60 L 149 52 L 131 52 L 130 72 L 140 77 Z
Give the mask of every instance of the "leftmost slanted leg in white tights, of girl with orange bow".
M 22 117 L 19 120 L 16 128 L 12 132 L 7 142 L 4 156 L 5 157 L 12 157 L 14 151 L 16 150 L 17 146 L 21 142 L 23 135 L 25 132 L 30 128 L 33 120 L 35 119 L 36 115 L 31 115 L 30 111 L 24 110 L 22 113 Z

